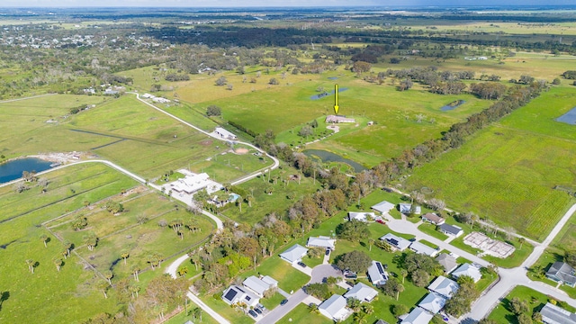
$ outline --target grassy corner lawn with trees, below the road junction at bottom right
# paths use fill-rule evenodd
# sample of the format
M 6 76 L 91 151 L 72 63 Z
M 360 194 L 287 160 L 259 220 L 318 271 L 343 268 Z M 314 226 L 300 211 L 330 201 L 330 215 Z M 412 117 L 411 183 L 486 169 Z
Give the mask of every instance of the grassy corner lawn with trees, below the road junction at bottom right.
M 514 288 L 506 298 L 500 302 L 498 306 L 491 312 L 488 316 L 491 320 L 496 320 L 498 323 L 512 323 L 518 324 L 518 319 L 512 311 L 509 309 L 509 302 L 514 298 L 518 297 L 521 301 L 527 301 L 528 311 L 527 315 L 532 317 L 532 313 L 535 311 L 540 311 L 545 306 L 546 302 L 550 299 L 544 293 L 538 293 L 525 286 L 518 286 Z M 569 305 L 564 305 L 566 311 L 574 311 L 574 308 Z

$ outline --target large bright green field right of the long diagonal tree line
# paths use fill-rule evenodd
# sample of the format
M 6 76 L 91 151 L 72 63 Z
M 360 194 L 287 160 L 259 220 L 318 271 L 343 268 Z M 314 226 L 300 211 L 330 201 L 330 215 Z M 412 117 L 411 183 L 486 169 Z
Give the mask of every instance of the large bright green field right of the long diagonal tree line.
M 406 182 L 407 190 L 428 186 L 450 208 L 473 211 L 531 238 L 545 238 L 575 202 L 567 193 L 553 189 L 556 185 L 572 188 L 576 181 L 576 142 L 566 139 L 573 135 L 554 136 L 566 130 L 563 124 L 549 118 L 536 122 L 531 117 L 549 96 L 554 105 L 547 110 L 555 113 L 546 114 L 565 112 L 571 96 L 563 96 L 564 104 L 558 104 L 557 94 L 563 90 L 542 94 L 500 123 L 479 131 L 462 148 L 415 170 Z M 521 127 L 523 116 L 535 121 L 535 131 Z

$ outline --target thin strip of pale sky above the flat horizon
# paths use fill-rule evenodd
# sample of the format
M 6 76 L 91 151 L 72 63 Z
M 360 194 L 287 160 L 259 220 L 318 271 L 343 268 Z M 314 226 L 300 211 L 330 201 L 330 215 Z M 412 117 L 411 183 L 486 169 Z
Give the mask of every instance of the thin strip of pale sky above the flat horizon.
M 298 7 L 298 6 L 469 6 L 567 5 L 574 0 L 0 0 L 0 7 Z

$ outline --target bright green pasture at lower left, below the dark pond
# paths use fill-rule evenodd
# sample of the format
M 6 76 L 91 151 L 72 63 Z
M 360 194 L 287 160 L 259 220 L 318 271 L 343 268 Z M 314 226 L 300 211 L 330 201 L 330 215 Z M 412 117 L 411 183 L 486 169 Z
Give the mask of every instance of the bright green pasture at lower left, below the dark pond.
M 85 202 L 99 202 L 130 189 L 136 182 L 99 164 L 67 166 L 40 177 L 49 180 L 46 193 L 38 187 L 23 193 L 15 193 L 11 185 L 0 188 L 0 286 L 9 294 L 0 321 L 27 323 L 41 316 L 46 322 L 71 323 L 103 311 L 115 313 L 114 294 L 104 299 L 94 287 L 102 279 L 84 270 L 77 257 L 65 260 L 57 271 L 52 258 L 62 257 L 62 244 L 40 224 L 83 208 Z M 49 237 L 47 247 L 41 235 Z M 28 271 L 26 259 L 36 262 L 34 274 Z

